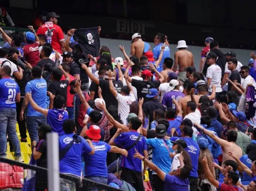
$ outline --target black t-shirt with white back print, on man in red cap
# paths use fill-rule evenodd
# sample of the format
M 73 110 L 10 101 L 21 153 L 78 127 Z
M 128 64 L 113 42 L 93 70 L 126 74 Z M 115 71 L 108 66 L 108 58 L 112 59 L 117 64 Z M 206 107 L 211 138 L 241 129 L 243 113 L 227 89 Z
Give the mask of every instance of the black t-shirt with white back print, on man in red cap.
M 132 79 L 132 86 L 134 86 L 137 89 L 137 97 L 138 99 L 144 98 L 145 101 L 149 101 L 146 97 L 146 95 L 149 93 L 149 89 L 151 88 L 159 88 L 161 84 L 160 80 L 156 81 L 139 81 L 136 79 Z

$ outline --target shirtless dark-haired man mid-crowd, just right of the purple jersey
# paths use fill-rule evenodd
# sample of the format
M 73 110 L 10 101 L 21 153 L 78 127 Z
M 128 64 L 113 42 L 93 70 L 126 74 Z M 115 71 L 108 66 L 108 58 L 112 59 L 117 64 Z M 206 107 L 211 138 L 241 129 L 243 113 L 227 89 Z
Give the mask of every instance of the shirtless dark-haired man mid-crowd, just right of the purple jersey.
M 178 103 L 180 108 L 183 111 L 183 116 L 186 116 L 187 113 L 187 101 L 194 101 L 196 104 L 198 104 L 198 101 L 200 99 L 199 95 L 194 95 L 194 90 L 195 90 L 195 86 L 193 83 L 190 83 L 187 85 L 186 90 L 185 90 L 185 94 L 186 96 L 181 98 Z

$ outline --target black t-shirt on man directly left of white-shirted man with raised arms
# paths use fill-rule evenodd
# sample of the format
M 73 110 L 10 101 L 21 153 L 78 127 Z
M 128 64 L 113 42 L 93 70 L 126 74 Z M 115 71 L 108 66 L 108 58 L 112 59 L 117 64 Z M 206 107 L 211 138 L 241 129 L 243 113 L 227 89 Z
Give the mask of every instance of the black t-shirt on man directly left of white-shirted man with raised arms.
M 115 90 L 118 91 L 118 93 L 121 92 L 121 87 L 123 87 L 123 82 L 121 80 L 115 81 L 113 80 L 113 85 Z M 100 79 L 100 88 L 102 90 L 102 97 L 105 100 L 106 108 L 108 109 L 109 106 L 113 105 L 118 109 L 118 100 L 114 97 L 112 92 L 109 90 L 109 81 Z

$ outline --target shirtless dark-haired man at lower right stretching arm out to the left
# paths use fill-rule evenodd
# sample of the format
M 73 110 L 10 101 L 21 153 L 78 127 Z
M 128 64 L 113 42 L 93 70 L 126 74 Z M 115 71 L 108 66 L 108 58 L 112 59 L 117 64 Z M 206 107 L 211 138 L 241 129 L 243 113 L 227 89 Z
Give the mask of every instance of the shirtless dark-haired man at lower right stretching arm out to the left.
M 237 139 L 237 132 L 235 130 L 228 130 L 226 136 L 227 136 L 227 141 L 224 139 L 219 138 L 216 136 L 212 131 L 208 131 L 204 129 L 200 124 L 194 123 L 194 127 L 197 127 L 200 129 L 202 132 L 205 133 L 205 135 L 208 135 L 210 138 L 214 139 L 214 141 L 218 144 L 221 145 L 222 147 L 222 164 L 221 167 L 223 168 L 224 162 L 227 160 L 232 160 L 235 161 L 233 157 L 228 155 L 228 152 L 232 151 L 233 155 L 236 156 L 237 158 L 240 158 L 242 156 L 242 149 L 235 144 L 236 139 Z M 220 180 L 223 179 L 223 174 L 220 174 Z

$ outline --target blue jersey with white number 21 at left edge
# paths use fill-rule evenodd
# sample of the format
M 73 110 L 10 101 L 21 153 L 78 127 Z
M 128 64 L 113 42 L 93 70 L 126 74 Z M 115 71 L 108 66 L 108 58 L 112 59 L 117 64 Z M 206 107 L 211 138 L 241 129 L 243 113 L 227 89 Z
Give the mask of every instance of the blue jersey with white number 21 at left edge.
M 16 108 L 16 95 L 20 93 L 20 87 L 10 77 L 0 80 L 0 110 L 7 107 Z

